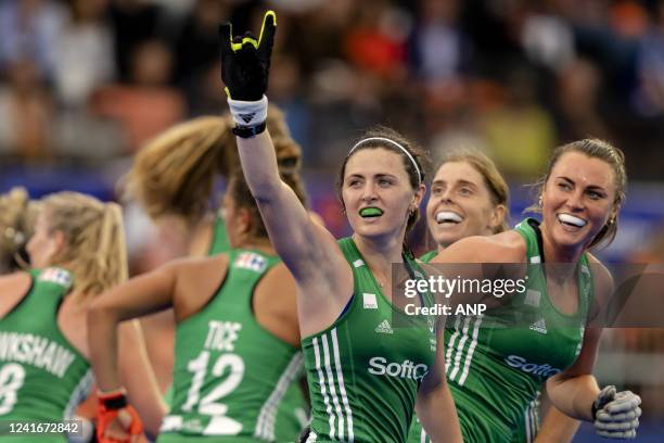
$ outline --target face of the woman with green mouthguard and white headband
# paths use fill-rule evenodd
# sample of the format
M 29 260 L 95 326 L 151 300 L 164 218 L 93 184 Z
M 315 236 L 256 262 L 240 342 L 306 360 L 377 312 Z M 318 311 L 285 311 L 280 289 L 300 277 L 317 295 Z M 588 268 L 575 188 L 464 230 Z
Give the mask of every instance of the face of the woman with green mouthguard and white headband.
M 365 237 L 404 236 L 408 214 L 422 200 L 424 186 L 414 190 L 398 153 L 361 149 L 347 161 L 342 199 L 353 230 Z

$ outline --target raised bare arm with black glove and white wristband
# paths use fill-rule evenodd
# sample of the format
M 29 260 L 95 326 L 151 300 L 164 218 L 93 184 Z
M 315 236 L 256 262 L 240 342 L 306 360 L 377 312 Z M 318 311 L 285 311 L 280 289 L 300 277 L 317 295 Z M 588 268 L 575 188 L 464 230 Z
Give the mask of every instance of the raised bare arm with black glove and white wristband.
M 265 91 L 276 28 L 272 11 L 266 13 L 258 39 L 251 35 L 233 39 L 229 23 L 219 28 L 221 78 L 237 124 L 233 131 L 240 161 L 270 240 L 298 283 L 320 281 L 321 273 L 332 274 L 323 275 L 323 280 L 339 281 L 333 274 L 346 266 L 343 255 L 330 232 L 310 220 L 293 190 L 281 180 L 272 141 L 265 130 Z M 324 270 L 320 270 L 321 262 L 328 263 Z

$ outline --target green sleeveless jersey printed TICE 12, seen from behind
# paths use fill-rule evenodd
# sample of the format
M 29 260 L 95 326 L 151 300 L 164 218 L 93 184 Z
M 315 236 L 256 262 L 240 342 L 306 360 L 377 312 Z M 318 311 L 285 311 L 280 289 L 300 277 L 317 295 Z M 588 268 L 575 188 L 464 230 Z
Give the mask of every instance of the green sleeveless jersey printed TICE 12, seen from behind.
M 254 250 L 228 255 L 220 289 L 176 328 L 173 405 L 159 442 L 283 442 L 303 427 L 279 410 L 302 353 L 264 329 L 252 307 L 256 284 L 280 261 Z

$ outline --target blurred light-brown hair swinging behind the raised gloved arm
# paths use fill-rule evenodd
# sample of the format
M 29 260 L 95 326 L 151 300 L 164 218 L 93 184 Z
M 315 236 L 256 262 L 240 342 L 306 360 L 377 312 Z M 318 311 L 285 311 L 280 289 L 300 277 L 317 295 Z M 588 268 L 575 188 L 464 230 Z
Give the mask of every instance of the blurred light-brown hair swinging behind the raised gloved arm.
M 136 200 L 152 219 L 176 215 L 188 226 L 195 225 L 207 212 L 216 175 L 228 177 L 239 168 L 233 126 L 227 113 L 167 129 L 137 153 L 126 176 L 125 195 Z M 268 109 L 267 127 L 280 169 L 295 173 L 301 149 L 274 105 Z

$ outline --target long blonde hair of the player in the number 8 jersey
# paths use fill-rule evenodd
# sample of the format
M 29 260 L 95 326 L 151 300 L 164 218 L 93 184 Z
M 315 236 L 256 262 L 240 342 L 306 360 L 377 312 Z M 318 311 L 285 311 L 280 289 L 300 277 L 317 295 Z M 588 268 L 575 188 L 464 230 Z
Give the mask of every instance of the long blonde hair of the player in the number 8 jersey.
M 127 248 L 118 204 L 77 192 L 50 194 L 42 204 L 49 231 L 61 231 L 65 239 L 52 265 L 74 275 L 77 294 L 98 295 L 127 279 Z

